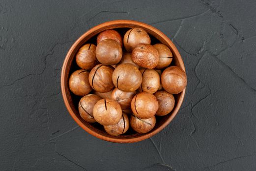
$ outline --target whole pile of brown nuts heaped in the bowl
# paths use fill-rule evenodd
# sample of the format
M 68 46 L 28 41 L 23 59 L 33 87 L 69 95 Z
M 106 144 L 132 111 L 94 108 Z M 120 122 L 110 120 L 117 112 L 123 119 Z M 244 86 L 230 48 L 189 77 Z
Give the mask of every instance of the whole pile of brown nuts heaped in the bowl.
M 81 69 L 71 74 L 69 88 L 82 96 L 78 109 L 86 122 L 103 125 L 113 136 L 130 126 L 146 133 L 154 128 L 155 115 L 171 112 L 172 94 L 183 91 L 187 77 L 180 67 L 170 66 L 172 52 L 165 44 L 150 43 L 142 28 L 131 28 L 123 38 L 106 30 L 97 36 L 97 45 L 79 49 L 76 63 Z

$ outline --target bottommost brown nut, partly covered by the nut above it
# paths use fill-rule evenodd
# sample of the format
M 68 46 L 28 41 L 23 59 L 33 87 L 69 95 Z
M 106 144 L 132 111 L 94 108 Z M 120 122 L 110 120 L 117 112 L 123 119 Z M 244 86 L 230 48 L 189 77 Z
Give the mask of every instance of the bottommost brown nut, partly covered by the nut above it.
M 129 118 L 128 118 L 127 114 L 122 113 L 122 117 L 117 124 L 104 126 L 104 129 L 110 135 L 118 136 L 118 135 L 124 134 L 128 130 L 129 125 L 130 125 Z

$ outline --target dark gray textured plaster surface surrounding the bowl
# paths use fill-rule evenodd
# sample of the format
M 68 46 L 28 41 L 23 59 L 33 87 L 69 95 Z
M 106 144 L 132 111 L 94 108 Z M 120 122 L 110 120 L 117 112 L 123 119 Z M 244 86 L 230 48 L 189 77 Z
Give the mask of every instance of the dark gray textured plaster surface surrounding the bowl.
M 1 171 L 256 171 L 255 0 L 0 0 Z M 171 124 L 134 144 L 97 139 L 68 114 L 60 72 L 104 21 L 142 21 L 184 60 Z

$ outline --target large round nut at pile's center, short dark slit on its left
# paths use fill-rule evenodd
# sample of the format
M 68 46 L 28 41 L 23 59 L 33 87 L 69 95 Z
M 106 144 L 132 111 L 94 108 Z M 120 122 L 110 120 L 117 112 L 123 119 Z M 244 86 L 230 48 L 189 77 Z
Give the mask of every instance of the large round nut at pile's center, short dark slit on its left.
M 119 90 L 133 92 L 142 84 L 142 74 L 134 64 L 120 64 L 114 69 L 112 81 Z

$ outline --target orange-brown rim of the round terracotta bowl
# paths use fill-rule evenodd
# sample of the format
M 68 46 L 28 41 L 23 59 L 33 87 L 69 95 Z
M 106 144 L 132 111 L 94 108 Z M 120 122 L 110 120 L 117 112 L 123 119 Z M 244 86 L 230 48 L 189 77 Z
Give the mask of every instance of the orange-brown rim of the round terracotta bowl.
M 60 84 L 61 84 L 61 92 L 62 92 L 63 101 L 64 101 L 64 104 L 65 104 L 69 114 L 75 120 L 75 122 L 81 128 L 83 128 L 86 132 L 88 132 L 89 134 L 91 134 L 91 135 L 93 135 L 93 136 L 95 136 L 97 138 L 100 138 L 102 140 L 106 140 L 106 141 L 110 141 L 110 142 L 114 142 L 114 143 L 134 143 L 134 142 L 145 140 L 145 139 L 147 139 L 147 138 L 157 134 L 158 132 L 160 132 L 163 128 L 165 128 L 172 121 L 172 119 L 176 116 L 176 114 L 178 113 L 179 108 L 182 105 L 182 102 L 183 102 L 183 99 L 184 99 L 184 96 L 185 96 L 186 88 L 180 93 L 179 101 L 177 101 L 175 109 L 172 111 L 171 115 L 164 121 L 164 123 L 162 125 L 160 125 L 158 128 L 156 128 L 153 131 L 150 131 L 148 133 L 142 134 L 139 137 L 129 137 L 129 138 L 120 139 L 120 138 L 114 138 L 114 137 L 107 137 L 107 136 L 104 136 L 102 134 L 99 134 L 99 133 L 91 130 L 90 128 L 88 128 L 85 124 L 83 124 L 83 122 L 77 117 L 77 115 L 72 110 L 72 107 L 69 104 L 69 101 L 68 101 L 68 98 L 67 98 L 67 93 L 66 93 L 66 89 L 68 89 L 68 86 L 67 86 L 67 84 L 65 84 L 65 79 L 64 79 L 69 74 L 69 73 L 66 73 L 66 70 L 67 70 L 69 58 L 71 58 L 72 52 L 74 51 L 76 46 L 78 46 L 78 44 L 81 43 L 85 39 L 86 36 L 91 35 L 93 32 L 95 32 L 95 30 L 100 30 L 100 29 L 103 29 L 104 27 L 115 26 L 115 25 L 120 25 L 120 24 L 122 24 L 122 25 L 127 25 L 127 24 L 131 25 L 132 24 L 132 25 L 136 25 L 138 27 L 147 28 L 150 31 L 152 31 L 155 34 L 157 34 L 158 36 L 160 36 L 162 39 L 165 40 L 166 43 L 168 43 L 171 46 L 172 53 L 174 53 L 174 55 L 176 56 L 176 59 L 177 59 L 179 65 L 180 65 L 180 67 L 185 71 L 185 66 L 184 66 L 183 60 L 182 60 L 182 58 L 181 58 L 181 56 L 180 56 L 176 46 L 160 30 L 158 30 L 157 28 L 155 28 L 155 27 L 153 27 L 151 25 L 148 25 L 146 23 L 139 22 L 139 21 L 133 21 L 133 20 L 114 20 L 114 21 L 103 22 L 103 23 L 101 23 L 99 25 L 96 25 L 96 26 L 90 28 L 82 36 L 80 36 L 75 41 L 75 43 L 72 44 L 72 46 L 70 47 L 70 49 L 67 52 L 67 55 L 65 57 L 63 65 L 62 65 Z

